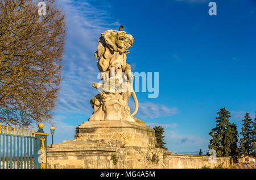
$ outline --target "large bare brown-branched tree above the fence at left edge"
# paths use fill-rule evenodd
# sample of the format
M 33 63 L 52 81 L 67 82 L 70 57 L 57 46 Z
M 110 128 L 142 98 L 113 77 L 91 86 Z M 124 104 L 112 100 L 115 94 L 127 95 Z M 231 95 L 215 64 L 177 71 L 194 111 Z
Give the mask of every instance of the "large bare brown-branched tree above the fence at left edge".
M 43 0 L 40 0 L 43 1 Z M 0 0 L 0 123 L 52 118 L 61 82 L 65 19 L 55 0 Z

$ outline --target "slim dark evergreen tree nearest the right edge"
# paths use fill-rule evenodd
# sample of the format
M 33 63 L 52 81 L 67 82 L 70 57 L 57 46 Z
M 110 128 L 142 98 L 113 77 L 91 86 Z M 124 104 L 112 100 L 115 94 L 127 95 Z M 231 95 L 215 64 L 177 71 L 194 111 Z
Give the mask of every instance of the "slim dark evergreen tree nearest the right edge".
M 243 121 L 242 138 L 240 139 L 240 153 L 246 155 L 251 155 L 253 153 L 253 143 L 254 143 L 254 123 L 250 118 L 249 113 L 246 112 L 245 119 Z

